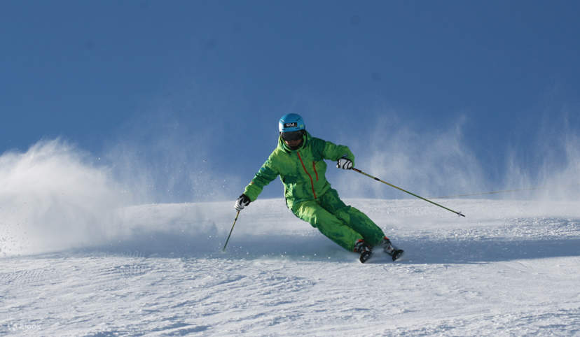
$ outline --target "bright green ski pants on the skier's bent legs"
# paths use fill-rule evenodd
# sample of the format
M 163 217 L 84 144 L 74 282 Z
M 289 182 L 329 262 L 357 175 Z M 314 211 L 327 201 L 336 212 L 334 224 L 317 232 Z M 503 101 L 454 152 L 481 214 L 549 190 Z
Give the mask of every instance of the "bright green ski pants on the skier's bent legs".
M 329 189 L 315 200 L 294 203 L 291 211 L 346 250 L 354 250 L 354 244 L 360 239 L 372 247 L 385 237 L 373 220 L 340 200 L 335 189 Z

